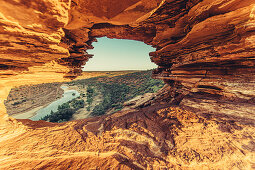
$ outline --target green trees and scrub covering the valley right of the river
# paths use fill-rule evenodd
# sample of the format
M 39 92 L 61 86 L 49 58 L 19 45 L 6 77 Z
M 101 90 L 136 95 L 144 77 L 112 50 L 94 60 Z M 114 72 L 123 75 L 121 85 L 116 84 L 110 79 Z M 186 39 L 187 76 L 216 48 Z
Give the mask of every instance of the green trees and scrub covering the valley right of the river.
M 86 88 L 86 93 L 81 93 L 80 98 L 64 103 L 57 112 L 42 118 L 50 122 L 63 122 L 72 118 L 72 115 L 80 108 L 86 107 L 91 116 L 104 115 L 107 112 L 114 113 L 123 108 L 123 103 L 138 95 L 157 92 L 163 87 L 161 80 L 151 78 L 152 71 L 139 71 L 115 77 L 96 77 L 90 79 L 68 82 L 70 86 Z M 101 102 L 92 107 L 96 96 L 101 96 Z M 85 97 L 85 98 L 82 98 Z M 86 100 L 85 100 L 86 99 Z

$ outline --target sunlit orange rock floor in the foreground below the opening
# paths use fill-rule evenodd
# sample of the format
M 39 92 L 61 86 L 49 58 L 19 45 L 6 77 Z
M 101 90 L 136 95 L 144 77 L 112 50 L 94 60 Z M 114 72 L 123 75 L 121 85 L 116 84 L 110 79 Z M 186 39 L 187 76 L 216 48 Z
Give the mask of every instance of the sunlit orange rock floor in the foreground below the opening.
M 178 107 L 12 124 L 15 133 L 8 129 L 0 141 L 0 169 L 254 168 L 254 127 Z

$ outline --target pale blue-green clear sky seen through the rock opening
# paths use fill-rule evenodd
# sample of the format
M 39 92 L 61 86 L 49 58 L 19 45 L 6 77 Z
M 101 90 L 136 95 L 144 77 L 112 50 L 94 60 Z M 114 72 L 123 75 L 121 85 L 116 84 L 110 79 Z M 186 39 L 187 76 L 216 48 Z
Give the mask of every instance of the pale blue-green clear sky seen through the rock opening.
M 156 68 L 150 61 L 149 52 L 155 49 L 143 42 L 134 40 L 118 40 L 106 37 L 94 42 L 94 54 L 83 71 L 118 71 L 118 70 L 147 70 Z

